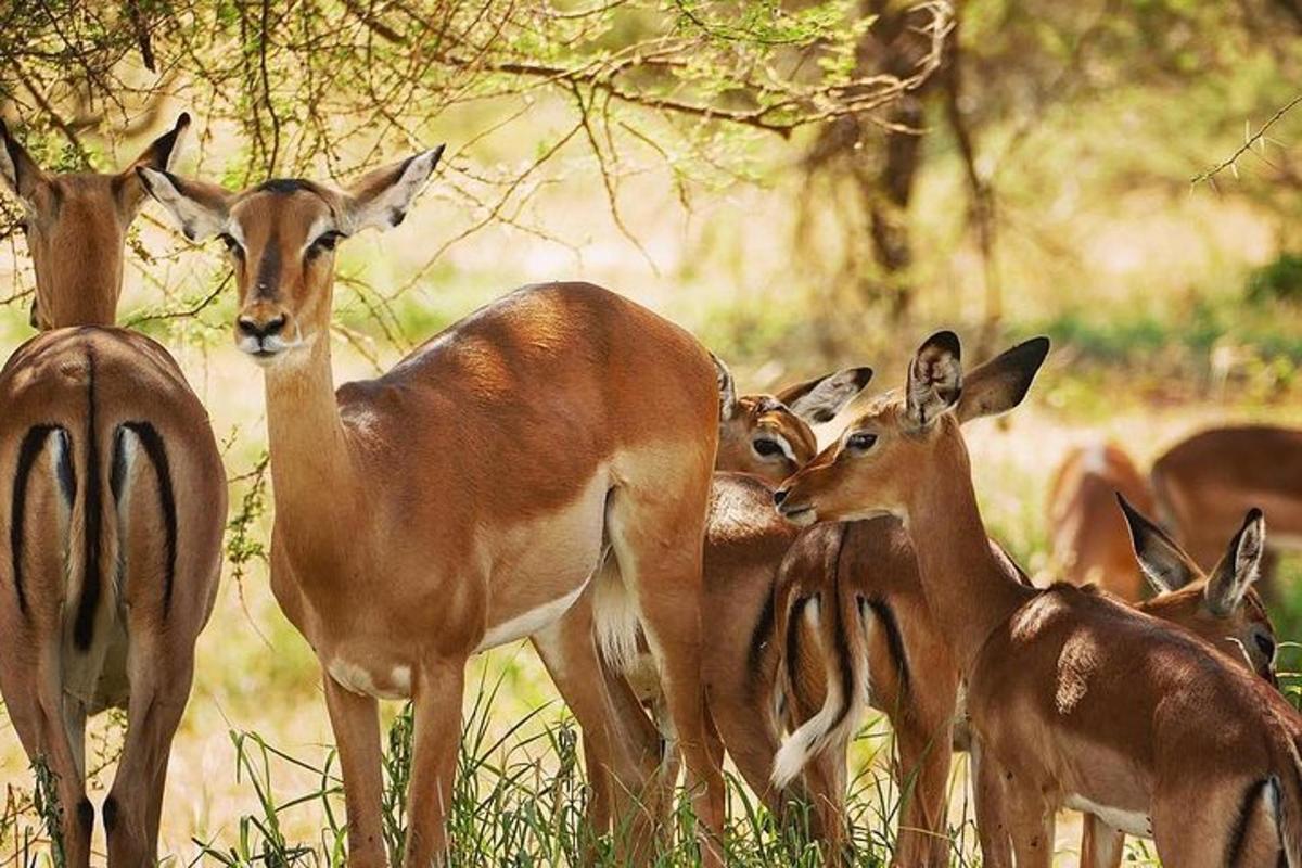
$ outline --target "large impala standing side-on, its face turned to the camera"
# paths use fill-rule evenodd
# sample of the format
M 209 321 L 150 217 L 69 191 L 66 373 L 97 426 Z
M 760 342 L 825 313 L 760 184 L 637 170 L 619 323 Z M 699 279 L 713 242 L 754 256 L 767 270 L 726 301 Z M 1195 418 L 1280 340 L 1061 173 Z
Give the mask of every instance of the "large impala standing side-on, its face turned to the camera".
M 189 238 L 230 251 L 237 345 L 266 371 L 272 590 L 324 670 L 350 864 L 385 864 L 376 699 L 415 705 L 405 864 L 441 863 L 467 658 L 534 636 L 568 700 L 600 690 L 573 683 L 586 670 L 553 629 L 594 575 L 618 580 L 594 588 L 598 630 L 604 595 L 646 632 L 719 864 L 721 760 L 700 681 L 710 354 L 620 295 L 546 284 L 333 389 L 335 246 L 401 223 L 440 154 L 346 191 L 276 180 L 232 194 L 142 170 Z M 608 550 L 618 570 L 599 573 Z

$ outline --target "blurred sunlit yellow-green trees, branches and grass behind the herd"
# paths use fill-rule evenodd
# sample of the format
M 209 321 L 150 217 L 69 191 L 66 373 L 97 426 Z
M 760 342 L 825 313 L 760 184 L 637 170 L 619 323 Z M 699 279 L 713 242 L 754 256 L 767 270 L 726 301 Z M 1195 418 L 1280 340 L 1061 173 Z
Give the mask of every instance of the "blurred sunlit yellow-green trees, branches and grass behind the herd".
M 108 170 L 190 111 L 180 170 L 233 189 L 448 142 L 409 220 L 341 251 L 340 380 L 569 277 L 687 325 L 747 390 L 861 362 L 894 385 L 939 325 L 973 355 L 1047 332 L 1030 406 L 973 439 L 992 530 L 1038 570 L 1068 446 L 1143 463 L 1211 423 L 1302 422 L 1299 36 L 1299 0 L 13 0 L 0 115 L 47 168 Z M 0 204 L 9 347 L 30 334 L 20 216 Z M 229 730 L 290 753 L 329 733 L 266 588 L 262 397 L 219 245 L 152 204 L 130 243 L 121 318 L 186 367 L 236 506 L 165 808 L 189 860 L 254 809 Z M 555 699 L 529 651 L 482 666 L 497 726 Z M 320 783 L 283 773 L 289 795 Z M 27 780 L 0 729 L 0 781 Z M 319 813 L 294 822 L 319 843 Z

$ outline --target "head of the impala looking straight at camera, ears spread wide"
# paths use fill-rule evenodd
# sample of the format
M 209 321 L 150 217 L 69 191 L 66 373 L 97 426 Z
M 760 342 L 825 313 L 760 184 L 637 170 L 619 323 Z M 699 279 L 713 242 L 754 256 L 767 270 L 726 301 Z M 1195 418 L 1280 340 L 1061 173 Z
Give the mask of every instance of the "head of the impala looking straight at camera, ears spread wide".
M 376 169 L 346 190 L 272 180 L 229 193 L 169 172 L 142 168 L 139 174 L 186 238 L 221 238 L 240 293 L 236 345 L 270 363 L 327 340 L 335 246 L 362 229 L 402 223 L 441 155 L 440 144 Z

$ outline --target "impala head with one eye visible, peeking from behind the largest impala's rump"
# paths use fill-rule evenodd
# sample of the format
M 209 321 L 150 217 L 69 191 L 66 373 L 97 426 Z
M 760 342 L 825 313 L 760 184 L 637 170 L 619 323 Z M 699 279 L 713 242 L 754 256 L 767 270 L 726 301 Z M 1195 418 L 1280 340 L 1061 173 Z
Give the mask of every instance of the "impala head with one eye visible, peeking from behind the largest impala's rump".
M 753 474 L 775 485 L 818 454 L 812 424 L 828 422 L 872 379 L 872 368 L 846 368 L 783 389 L 737 396 L 732 372 L 719 372 L 717 470 Z

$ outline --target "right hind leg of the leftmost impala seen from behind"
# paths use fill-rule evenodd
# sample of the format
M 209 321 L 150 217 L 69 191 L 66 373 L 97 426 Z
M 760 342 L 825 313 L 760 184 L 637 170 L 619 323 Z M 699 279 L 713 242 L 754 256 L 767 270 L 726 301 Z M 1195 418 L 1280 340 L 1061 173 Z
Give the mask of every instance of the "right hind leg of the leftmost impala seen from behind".
M 164 647 L 156 636 L 141 632 L 133 634 L 128 658 L 126 742 L 104 799 L 113 868 L 155 863 L 168 755 L 194 679 L 191 648 Z

